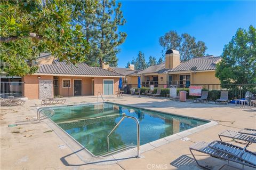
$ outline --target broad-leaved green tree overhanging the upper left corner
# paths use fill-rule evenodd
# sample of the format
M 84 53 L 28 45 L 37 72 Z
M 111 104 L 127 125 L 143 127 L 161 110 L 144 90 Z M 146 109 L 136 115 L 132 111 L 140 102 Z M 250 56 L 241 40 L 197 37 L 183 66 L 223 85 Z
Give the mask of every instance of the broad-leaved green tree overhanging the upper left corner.
M 40 52 L 51 52 L 56 58 L 76 64 L 85 61 L 89 43 L 83 37 L 81 26 L 70 25 L 70 16 L 82 6 L 92 13 L 94 1 L 1 1 L 1 72 L 10 76 L 33 74 L 31 66 Z

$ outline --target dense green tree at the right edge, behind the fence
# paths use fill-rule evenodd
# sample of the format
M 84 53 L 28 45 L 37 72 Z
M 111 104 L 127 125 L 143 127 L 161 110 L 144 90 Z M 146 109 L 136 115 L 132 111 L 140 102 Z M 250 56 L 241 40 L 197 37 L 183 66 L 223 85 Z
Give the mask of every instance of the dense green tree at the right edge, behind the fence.
M 248 31 L 239 28 L 221 56 L 215 72 L 221 84 L 256 83 L 256 29 L 253 26 Z

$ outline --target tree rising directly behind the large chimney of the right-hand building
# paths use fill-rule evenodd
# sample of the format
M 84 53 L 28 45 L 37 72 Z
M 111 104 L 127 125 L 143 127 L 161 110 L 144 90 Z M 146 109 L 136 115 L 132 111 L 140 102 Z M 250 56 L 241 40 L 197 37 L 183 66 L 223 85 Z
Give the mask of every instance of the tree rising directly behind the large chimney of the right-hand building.
M 163 47 L 163 56 L 168 49 L 178 50 L 182 61 L 187 61 L 197 56 L 204 56 L 207 50 L 204 42 L 196 42 L 196 38 L 187 33 L 180 36 L 177 31 L 169 31 L 164 36 L 161 36 L 159 44 Z

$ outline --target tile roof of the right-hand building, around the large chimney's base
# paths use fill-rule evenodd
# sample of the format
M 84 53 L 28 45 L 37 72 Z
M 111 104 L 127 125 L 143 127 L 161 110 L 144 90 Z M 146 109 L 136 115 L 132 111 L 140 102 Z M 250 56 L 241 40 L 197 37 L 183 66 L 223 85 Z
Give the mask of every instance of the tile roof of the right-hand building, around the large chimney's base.
M 146 69 L 139 71 L 137 74 L 131 75 L 141 75 L 149 73 L 166 73 L 166 72 L 175 72 L 175 71 L 190 71 L 192 67 L 197 67 L 197 71 L 202 70 L 215 70 L 216 63 L 221 60 L 220 56 L 207 55 L 203 57 L 197 57 L 188 61 L 180 62 L 180 65 L 173 69 L 165 69 L 165 62 L 150 66 Z

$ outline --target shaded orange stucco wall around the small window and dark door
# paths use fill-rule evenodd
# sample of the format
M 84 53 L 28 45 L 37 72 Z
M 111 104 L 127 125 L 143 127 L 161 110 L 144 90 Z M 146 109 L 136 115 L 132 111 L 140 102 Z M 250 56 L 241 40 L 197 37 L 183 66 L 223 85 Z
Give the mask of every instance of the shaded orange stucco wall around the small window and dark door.
M 70 88 L 63 87 L 63 79 L 70 79 Z M 93 77 L 59 77 L 59 95 L 74 95 L 74 79 L 82 79 L 82 95 L 92 95 L 92 79 Z

